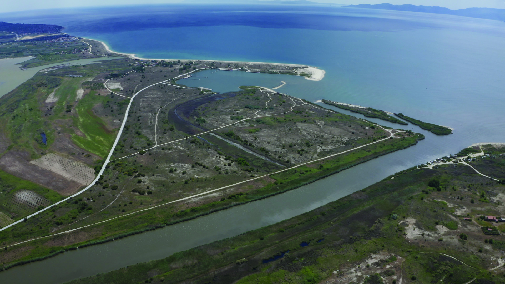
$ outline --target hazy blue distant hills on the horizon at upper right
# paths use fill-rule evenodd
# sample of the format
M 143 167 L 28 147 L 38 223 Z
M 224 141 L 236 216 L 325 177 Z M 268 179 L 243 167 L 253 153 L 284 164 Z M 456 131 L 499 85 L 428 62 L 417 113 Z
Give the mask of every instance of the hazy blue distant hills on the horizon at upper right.
M 376 4 L 376 5 L 370 5 L 370 4 L 348 5 L 344 7 L 447 14 L 447 15 L 464 16 L 471 18 L 505 21 L 505 9 L 494 9 L 494 8 L 467 8 L 461 10 L 450 10 L 438 6 L 422 6 L 422 5 L 416 6 L 409 4 L 392 5 L 388 3 Z

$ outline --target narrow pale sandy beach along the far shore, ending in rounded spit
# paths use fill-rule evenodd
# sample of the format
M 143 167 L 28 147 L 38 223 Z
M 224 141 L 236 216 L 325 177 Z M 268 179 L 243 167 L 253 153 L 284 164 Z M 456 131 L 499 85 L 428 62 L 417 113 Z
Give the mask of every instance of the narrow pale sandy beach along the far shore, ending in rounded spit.
M 107 52 L 114 53 L 114 54 L 117 54 L 117 55 L 127 56 L 127 57 L 129 57 L 131 59 L 136 59 L 136 60 L 179 60 L 179 59 L 167 59 L 167 58 L 164 58 L 164 59 L 159 59 L 159 58 L 140 58 L 140 57 L 136 56 L 134 53 L 120 53 L 120 52 L 112 51 L 109 48 L 109 46 L 105 42 L 103 42 L 101 40 L 96 40 L 96 39 L 91 39 L 91 38 L 84 38 L 84 37 L 82 37 L 82 39 L 98 41 L 98 42 L 102 43 L 102 45 L 104 45 L 104 48 L 105 48 L 105 50 Z M 251 61 L 226 61 L 226 60 L 208 60 L 208 59 L 185 59 L 185 60 L 187 60 L 187 61 L 205 61 L 205 62 L 248 63 L 248 64 L 253 64 L 253 63 L 255 63 L 255 64 L 272 64 L 272 65 L 282 65 L 282 66 L 287 66 L 287 67 L 297 67 L 297 68 L 299 68 L 297 70 L 297 73 L 298 73 L 297 76 L 301 76 L 301 75 L 299 75 L 299 73 L 308 73 L 308 74 L 311 74 L 310 77 L 304 76 L 305 79 L 311 80 L 311 81 L 321 81 L 324 78 L 324 74 L 326 73 L 326 71 L 324 71 L 322 69 L 318 69 L 317 67 L 308 66 L 308 65 L 301 65 L 301 64 L 271 63 L 271 62 L 251 62 Z

